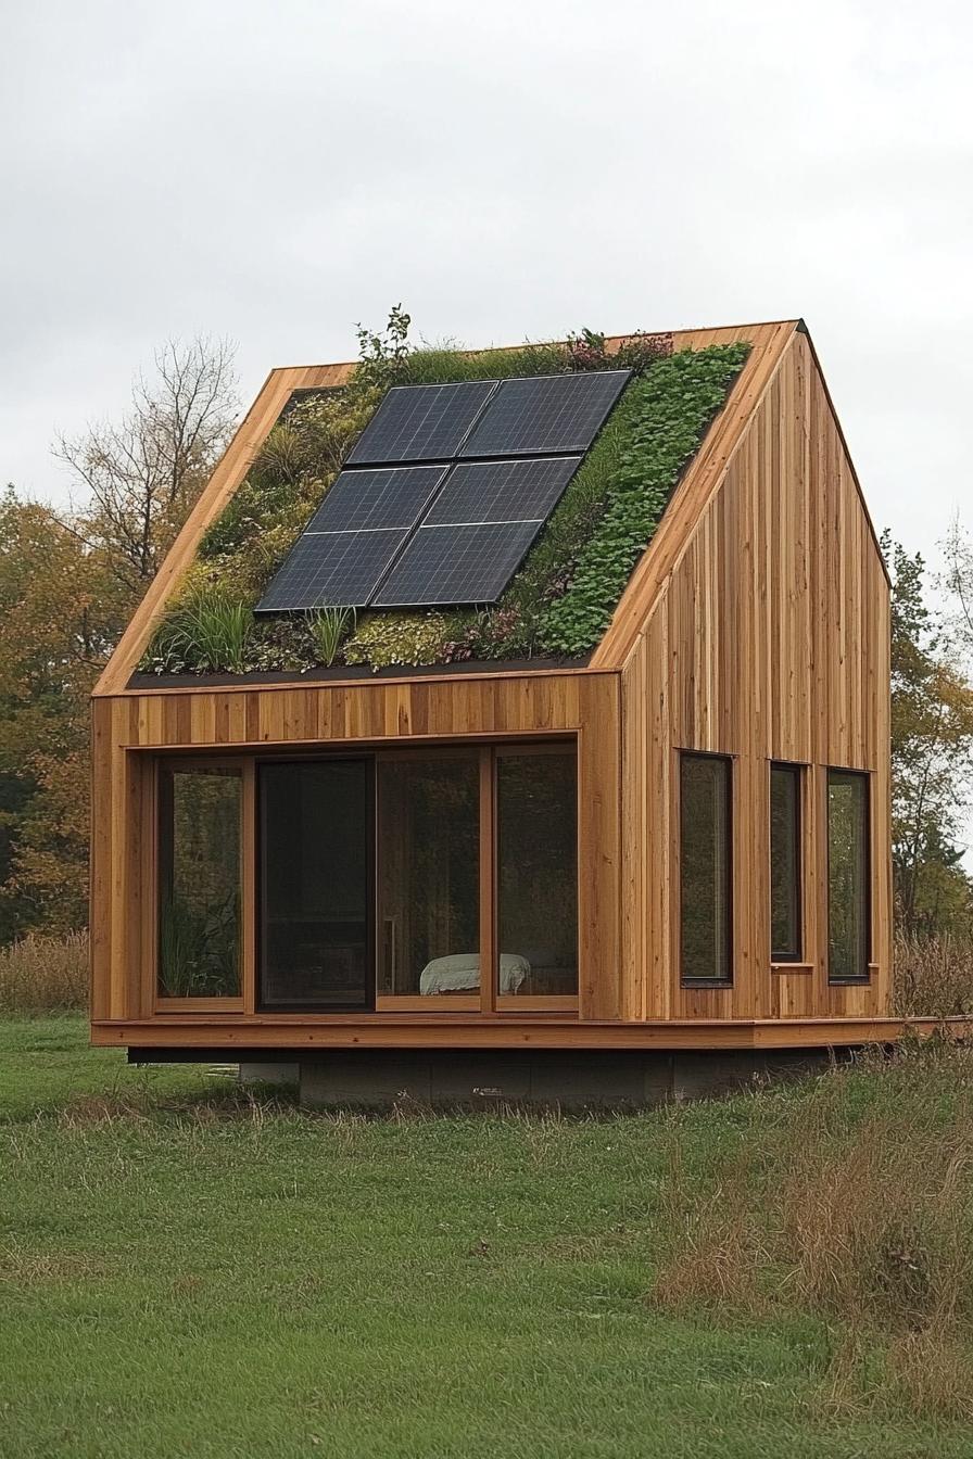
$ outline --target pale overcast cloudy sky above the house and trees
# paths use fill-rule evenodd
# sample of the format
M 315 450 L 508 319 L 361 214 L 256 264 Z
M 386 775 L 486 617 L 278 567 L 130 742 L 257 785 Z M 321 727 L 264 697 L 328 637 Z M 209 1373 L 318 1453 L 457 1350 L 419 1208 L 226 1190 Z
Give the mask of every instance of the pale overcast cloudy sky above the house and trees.
M 0 481 L 168 336 L 344 359 L 804 315 L 877 524 L 969 496 L 973 15 L 948 0 L 0 0 Z M 973 521 L 973 503 L 970 505 Z

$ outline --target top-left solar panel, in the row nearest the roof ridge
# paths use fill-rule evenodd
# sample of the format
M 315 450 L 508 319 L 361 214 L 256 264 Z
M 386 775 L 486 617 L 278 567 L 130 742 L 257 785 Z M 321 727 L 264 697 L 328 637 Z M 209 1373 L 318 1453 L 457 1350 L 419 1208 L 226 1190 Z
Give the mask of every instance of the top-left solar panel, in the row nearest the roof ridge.
M 354 442 L 347 464 L 381 465 L 455 457 L 495 390 L 495 379 L 394 385 Z

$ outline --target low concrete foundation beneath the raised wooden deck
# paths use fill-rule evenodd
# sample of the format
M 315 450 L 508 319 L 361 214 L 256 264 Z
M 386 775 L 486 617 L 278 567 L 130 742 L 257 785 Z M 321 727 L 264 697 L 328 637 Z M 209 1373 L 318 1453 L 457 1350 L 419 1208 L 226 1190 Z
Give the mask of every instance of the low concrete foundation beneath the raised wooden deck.
M 668 1100 L 710 1099 L 823 1069 L 850 1050 L 750 1049 L 659 1053 L 624 1050 L 462 1052 L 336 1049 L 299 1068 L 301 1102 L 318 1107 L 490 1109 L 528 1104 L 645 1109 Z

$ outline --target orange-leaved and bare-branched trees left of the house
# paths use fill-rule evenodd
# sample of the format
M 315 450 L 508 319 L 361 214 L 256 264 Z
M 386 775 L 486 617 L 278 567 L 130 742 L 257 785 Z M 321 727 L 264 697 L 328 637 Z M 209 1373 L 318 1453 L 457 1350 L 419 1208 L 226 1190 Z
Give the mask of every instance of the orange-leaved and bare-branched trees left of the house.
M 166 344 L 127 414 L 54 454 L 79 500 L 0 498 L 0 937 L 83 925 L 88 700 L 229 438 L 233 352 Z

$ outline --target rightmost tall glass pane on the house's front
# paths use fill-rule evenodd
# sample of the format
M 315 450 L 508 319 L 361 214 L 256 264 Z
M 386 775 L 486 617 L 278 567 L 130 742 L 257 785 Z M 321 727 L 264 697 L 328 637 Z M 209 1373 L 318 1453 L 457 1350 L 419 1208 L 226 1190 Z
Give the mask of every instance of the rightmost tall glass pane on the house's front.
M 496 757 L 500 994 L 578 992 L 573 747 Z

